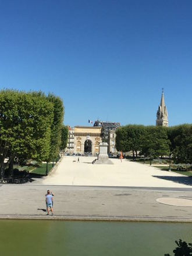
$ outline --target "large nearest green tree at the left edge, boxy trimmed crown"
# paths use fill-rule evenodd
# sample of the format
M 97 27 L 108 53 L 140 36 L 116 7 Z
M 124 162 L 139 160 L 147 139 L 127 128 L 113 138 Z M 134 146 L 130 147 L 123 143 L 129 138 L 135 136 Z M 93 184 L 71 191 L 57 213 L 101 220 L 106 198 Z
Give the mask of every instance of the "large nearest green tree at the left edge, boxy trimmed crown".
M 41 94 L 0 91 L 0 179 L 15 157 L 49 155 L 53 105 Z M 5 163 L 5 158 L 9 157 Z

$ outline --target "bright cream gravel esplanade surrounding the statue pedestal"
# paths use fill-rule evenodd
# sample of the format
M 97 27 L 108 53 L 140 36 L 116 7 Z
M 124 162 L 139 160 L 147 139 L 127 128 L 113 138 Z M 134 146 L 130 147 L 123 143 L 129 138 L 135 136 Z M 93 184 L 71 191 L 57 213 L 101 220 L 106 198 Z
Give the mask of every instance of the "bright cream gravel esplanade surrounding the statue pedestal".
M 192 187 L 189 177 L 123 159 L 113 165 L 93 165 L 93 157 L 63 157 L 58 168 L 40 184 L 68 186 Z M 75 161 L 75 162 L 74 162 Z

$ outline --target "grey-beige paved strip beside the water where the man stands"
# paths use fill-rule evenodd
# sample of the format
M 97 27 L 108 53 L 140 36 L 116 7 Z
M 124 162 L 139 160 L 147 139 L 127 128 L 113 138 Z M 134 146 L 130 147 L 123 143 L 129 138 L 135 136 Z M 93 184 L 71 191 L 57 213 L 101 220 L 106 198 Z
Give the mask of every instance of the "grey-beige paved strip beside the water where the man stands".
M 47 189 L 55 193 L 54 217 L 46 216 Z M 188 190 L 5 184 L 0 186 L 0 218 L 192 222 L 192 207 L 157 201 L 169 197 L 192 199 L 192 190 Z

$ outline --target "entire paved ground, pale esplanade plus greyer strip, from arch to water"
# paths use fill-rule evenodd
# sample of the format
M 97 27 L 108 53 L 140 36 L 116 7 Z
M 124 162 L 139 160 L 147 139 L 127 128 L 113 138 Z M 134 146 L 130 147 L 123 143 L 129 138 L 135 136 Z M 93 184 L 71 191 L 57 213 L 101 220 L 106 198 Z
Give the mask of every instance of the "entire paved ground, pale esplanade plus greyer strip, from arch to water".
M 0 185 L 0 218 L 192 222 L 190 177 L 119 159 L 92 165 L 93 159 L 64 157 L 48 177 Z M 54 216 L 45 212 L 48 189 L 55 193 Z M 178 201 L 182 206 L 165 204 Z

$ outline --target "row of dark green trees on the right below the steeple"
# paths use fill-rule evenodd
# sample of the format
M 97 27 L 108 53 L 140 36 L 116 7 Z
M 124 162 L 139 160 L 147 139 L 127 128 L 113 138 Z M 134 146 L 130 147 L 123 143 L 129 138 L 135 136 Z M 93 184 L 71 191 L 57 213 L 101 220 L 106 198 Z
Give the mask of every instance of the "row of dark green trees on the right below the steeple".
M 127 125 L 116 130 L 118 151 L 150 158 L 172 156 L 178 163 L 192 162 L 192 125 L 172 127 Z

